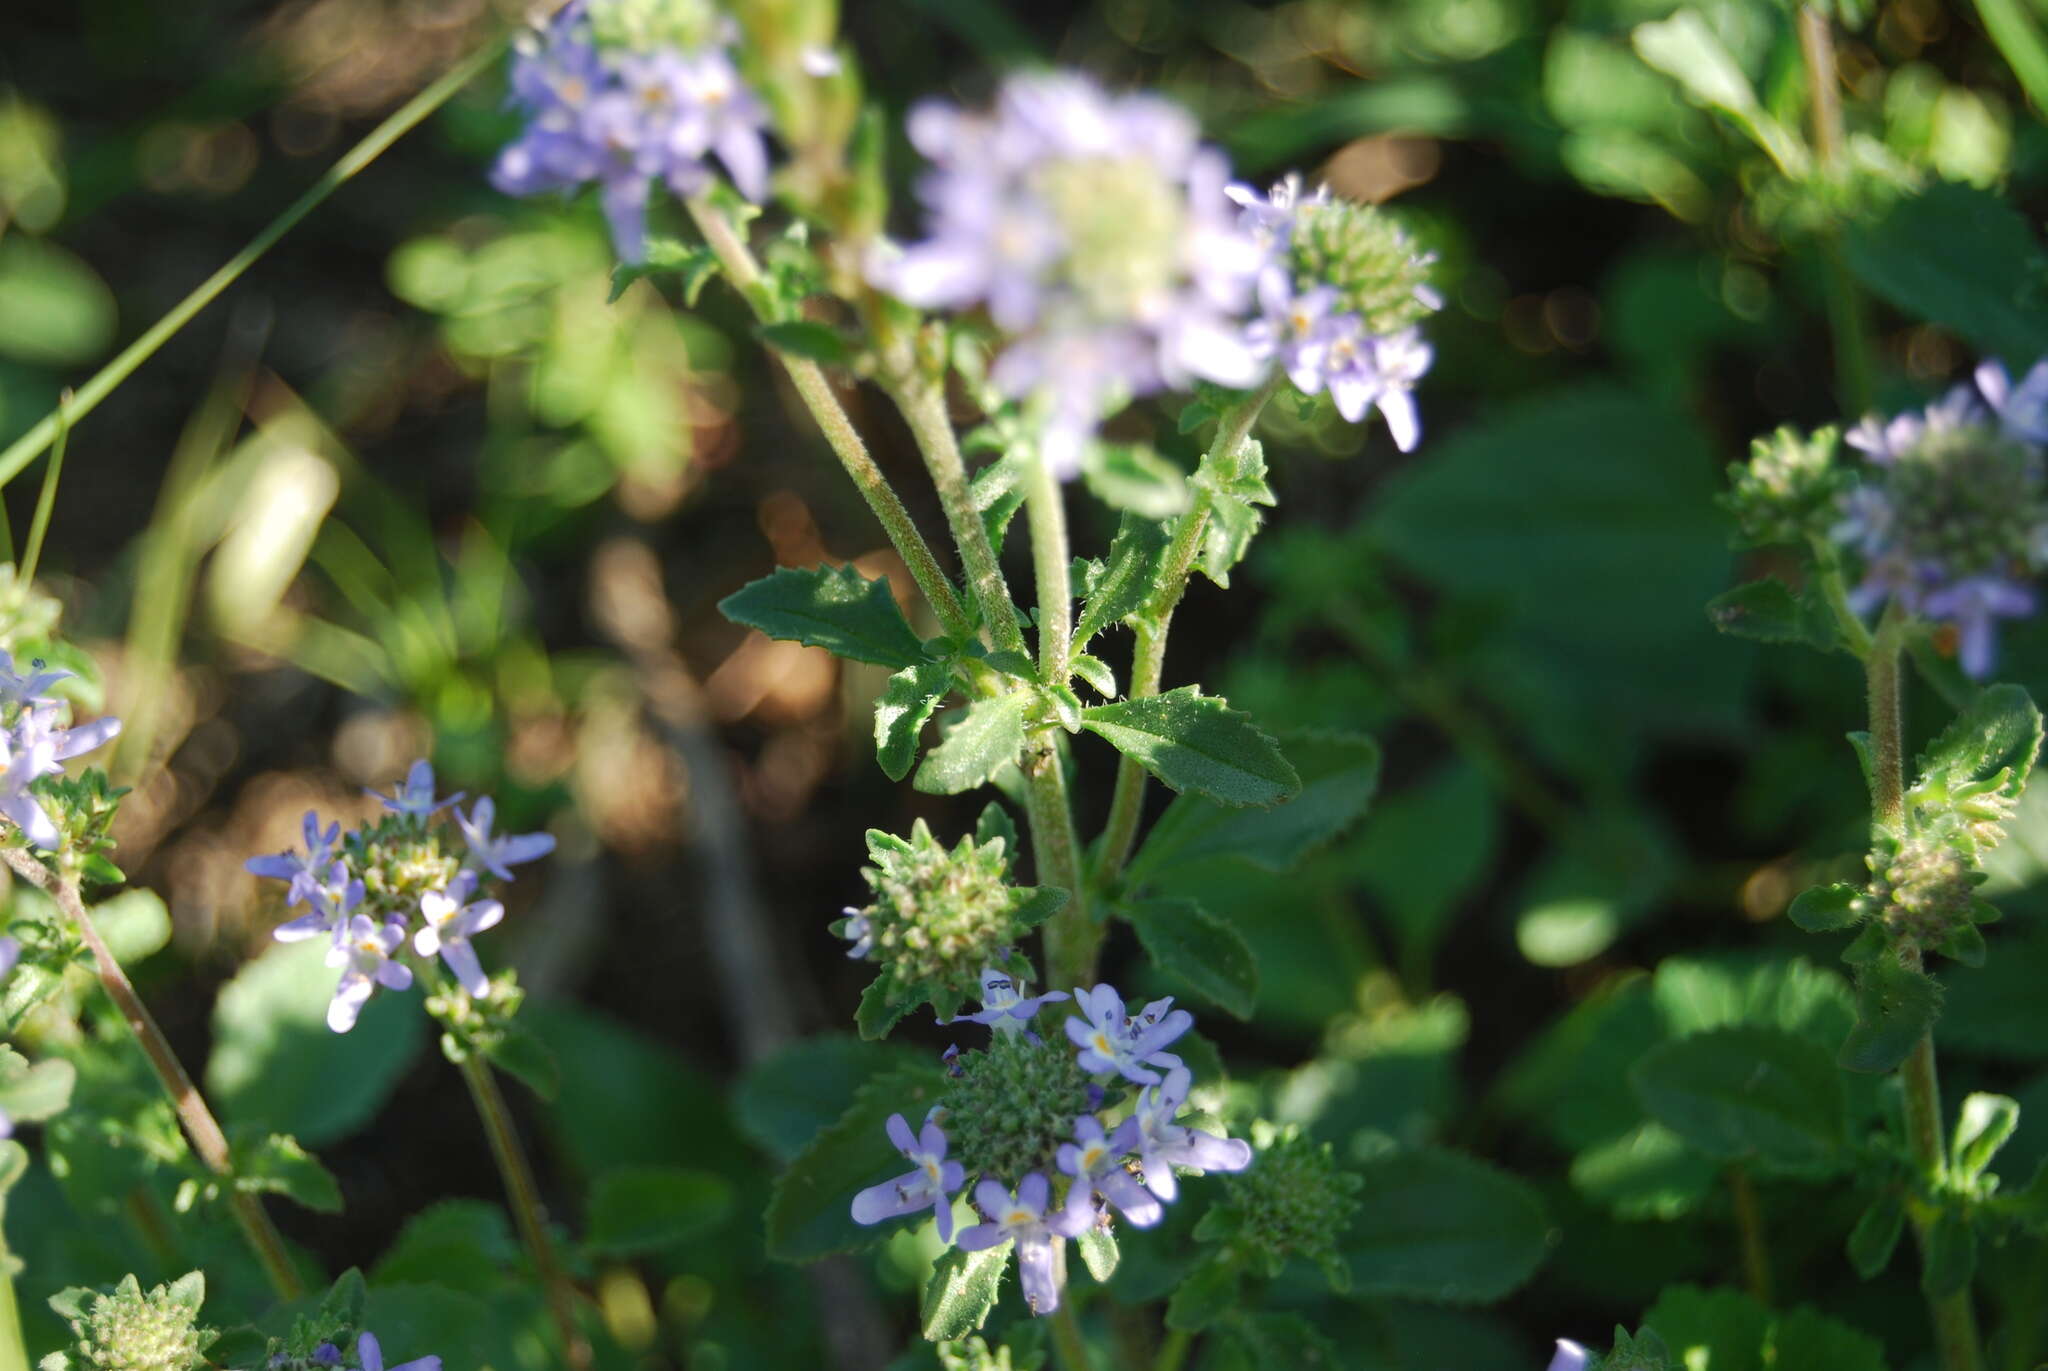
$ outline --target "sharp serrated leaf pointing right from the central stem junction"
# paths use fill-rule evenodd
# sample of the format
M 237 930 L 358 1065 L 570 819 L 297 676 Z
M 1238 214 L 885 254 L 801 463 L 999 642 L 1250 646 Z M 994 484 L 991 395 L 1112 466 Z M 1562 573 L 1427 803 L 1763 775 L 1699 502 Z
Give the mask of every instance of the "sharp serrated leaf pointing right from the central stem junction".
M 1274 805 L 1300 793 L 1278 744 L 1196 687 L 1083 709 L 1081 725 L 1174 791 L 1225 805 Z

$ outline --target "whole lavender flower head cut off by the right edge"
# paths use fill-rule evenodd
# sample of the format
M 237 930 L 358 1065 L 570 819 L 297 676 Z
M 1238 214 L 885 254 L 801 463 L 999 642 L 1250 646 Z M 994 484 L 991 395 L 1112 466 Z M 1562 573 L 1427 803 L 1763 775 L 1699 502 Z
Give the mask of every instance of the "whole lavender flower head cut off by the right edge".
M 1833 529 L 1864 566 L 1851 607 L 1952 627 L 1962 670 L 1987 676 L 1997 621 L 2032 615 L 2048 570 L 2048 361 L 2019 385 L 1987 361 L 1974 383 L 1845 441 L 1868 459 Z

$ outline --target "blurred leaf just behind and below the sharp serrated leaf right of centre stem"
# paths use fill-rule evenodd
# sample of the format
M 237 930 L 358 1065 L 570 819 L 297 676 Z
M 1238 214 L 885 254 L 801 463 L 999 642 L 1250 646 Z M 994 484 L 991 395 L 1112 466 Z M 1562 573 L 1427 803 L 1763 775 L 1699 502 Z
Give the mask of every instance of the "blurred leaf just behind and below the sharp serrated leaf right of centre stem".
M 1272 809 L 1225 809 L 1180 795 L 1130 859 L 1128 881 L 1143 885 L 1182 857 L 1229 853 L 1264 871 L 1292 871 L 1309 853 L 1356 824 L 1380 783 L 1380 746 L 1362 734 L 1298 732 L 1278 738 L 1300 793 Z

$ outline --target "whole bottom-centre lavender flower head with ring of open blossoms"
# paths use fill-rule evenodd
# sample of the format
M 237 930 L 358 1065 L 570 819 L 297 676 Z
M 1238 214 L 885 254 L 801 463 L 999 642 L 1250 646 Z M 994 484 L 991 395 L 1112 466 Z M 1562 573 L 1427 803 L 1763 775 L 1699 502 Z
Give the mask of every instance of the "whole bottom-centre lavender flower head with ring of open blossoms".
M 993 1029 L 981 1051 L 948 1051 L 952 1084 L 924 1125 L 889 1119 L 889 1141 L 911 1170 L 854 1197 L 854 1219 L 881 1223 L 930 1209 L 938 1236 L 969 1252 L 1016 1244 L 1032 1314 L 1059 1307 L 1067 1238 L 1120 1213 L 1139 1228 L 1163 1217 L 1178 1170 L 1235 1172 L 1251 1164 L 1243 1139 L 1182 1119 L 1194 1074 L 1167 1051 L 1194 1016 L 1171 1000 L 1137 1014 L 1110 986 L 1077 988 L 1067 1043 L 1026 1025 L 1065 992 L 1024 996 L 1004 971 L 983 975 L 975 1023 Z M 954 1195 L 969 1191 L 979 1223 L 954 1232 Z

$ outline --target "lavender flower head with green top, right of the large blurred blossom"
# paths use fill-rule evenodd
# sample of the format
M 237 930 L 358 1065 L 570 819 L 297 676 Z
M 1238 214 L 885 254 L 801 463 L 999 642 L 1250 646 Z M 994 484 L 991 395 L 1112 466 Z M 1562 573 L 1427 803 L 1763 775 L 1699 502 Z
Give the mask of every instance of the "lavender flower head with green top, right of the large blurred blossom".
M 1354 424 L 1378 408 L 1395 447 L 1413 451 L 1421 422 L 1411 391 L 1436 357 L 1417 320 L 1444 305 L 1425 281 L 1436 254 L 1370 205 L 1327 189 L 1303 195 L 1300 176 L 1266 195 L 1245 184 L 1229 195 L 1268 252 L 1249 332 L 1260 357 L 1305 396 L 1327 389 Z

